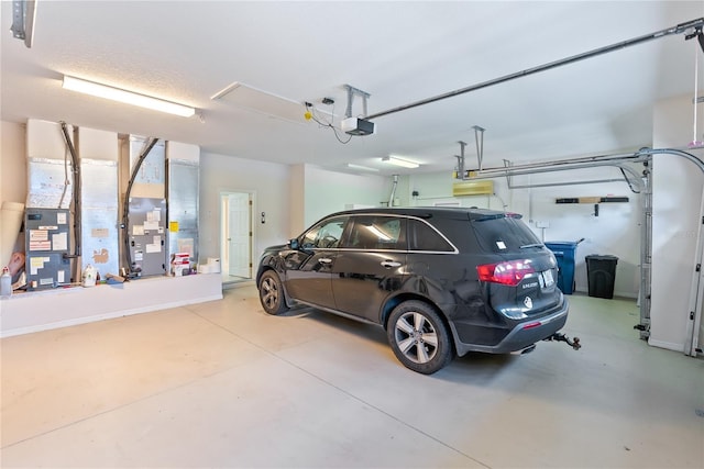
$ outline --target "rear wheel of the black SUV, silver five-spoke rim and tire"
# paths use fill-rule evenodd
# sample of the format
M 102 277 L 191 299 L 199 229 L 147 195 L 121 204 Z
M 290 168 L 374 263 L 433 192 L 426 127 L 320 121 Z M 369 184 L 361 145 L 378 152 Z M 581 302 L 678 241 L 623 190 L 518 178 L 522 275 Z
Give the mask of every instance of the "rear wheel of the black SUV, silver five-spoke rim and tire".
M 405 301 L 388 319 L 388 343 L 405 367 L 432 375 L 452 360 L 452 344 L 444 322 L 421 301 Z

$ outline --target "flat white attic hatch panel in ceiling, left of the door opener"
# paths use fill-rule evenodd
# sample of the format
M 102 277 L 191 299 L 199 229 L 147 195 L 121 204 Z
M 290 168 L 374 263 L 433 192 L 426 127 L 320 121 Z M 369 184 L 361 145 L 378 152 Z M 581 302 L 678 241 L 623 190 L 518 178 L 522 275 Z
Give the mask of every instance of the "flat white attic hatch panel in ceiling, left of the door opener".
M 278 94 L 263 91 L 240 81 L 227 86 L 210 97 L 213 101 L 221 101 L 238 108 L 258 112 L 283 121 L 305 124 L 305 104 Z

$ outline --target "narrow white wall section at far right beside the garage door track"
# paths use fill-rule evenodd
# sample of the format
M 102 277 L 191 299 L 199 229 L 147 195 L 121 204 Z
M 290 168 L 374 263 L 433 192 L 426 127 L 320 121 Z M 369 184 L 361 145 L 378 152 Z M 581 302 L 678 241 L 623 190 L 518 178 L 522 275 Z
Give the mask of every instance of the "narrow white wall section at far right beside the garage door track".
M 704 105 L 698 104 L 698 139 L 704 139 Z M 686 147 L 693 141 L 692 97 L 658 103 L 653 113 L 653 147 Z M 704 158 L 704 152 L 692 152 Z M 701 225 L 704 175 L 680 157 L 653 159 L 652 301 L 649 343 L 683 351 L 690 315 L 690 291 Z M 701 342 L 702 343 L 702 342 Z

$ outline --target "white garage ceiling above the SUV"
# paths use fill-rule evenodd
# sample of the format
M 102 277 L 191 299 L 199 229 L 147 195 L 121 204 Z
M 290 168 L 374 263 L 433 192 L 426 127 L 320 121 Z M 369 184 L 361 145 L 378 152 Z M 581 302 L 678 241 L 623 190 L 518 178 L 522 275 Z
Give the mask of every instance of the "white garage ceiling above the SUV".
M 11 7 L 1 2 L 4 121 L 65 121 L 229 156 L 330 169 L 354 163 L 381 174 L 408 172 L 387 169 L 381 158 L 389 154 L 450 171 L 459 141 L 476 166 L 474 125 L 486 129 L 485 167 L 650 145 L 653 102 L 694 97 L 697 54 L 700 70 L 704 63 L 696 41 L 670 35 L 376 118 L 376 134 L 343 145 L 305 121 L 302 102 L 323 118 L 334 113 L 339 125 L 345 83 L 371 94 L 375 114 L 702 18 L 704 2 L 38 0 L 31 48 L 12 37 Z M 79 96 L 62 89 L 64 74 L 190 104 L 201 118 Z M 278 97 L 278 115 L 243 108 L 235 94 L 211 100 L 235 81 Z M 353 115 L 361 112 L 358 97 Z

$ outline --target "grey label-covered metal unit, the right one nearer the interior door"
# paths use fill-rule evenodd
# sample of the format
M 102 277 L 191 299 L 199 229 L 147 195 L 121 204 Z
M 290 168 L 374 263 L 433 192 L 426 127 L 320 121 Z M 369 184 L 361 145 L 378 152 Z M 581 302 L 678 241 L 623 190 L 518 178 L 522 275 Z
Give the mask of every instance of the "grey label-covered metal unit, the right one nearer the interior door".
M 166 273 L 166 200 L 130 198 L 128 250 L 130 270 L 138 277 Z

